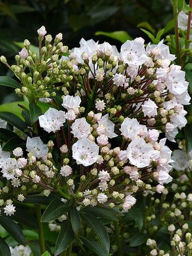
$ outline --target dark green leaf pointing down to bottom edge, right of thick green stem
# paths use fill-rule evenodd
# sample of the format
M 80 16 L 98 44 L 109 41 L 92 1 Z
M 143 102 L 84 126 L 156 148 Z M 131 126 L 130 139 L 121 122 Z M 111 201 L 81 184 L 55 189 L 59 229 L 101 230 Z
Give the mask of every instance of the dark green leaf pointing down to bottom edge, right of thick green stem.
M 74 240 L 74 233 L 69 221 L 62 221 L 61 230 L 56 241 L 55 256 L 66 250 Z

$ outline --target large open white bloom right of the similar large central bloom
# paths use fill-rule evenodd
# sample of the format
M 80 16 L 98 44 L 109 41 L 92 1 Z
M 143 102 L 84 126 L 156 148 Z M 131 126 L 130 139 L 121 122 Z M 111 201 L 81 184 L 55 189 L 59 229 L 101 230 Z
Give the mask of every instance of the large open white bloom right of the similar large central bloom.
M 153 147 L 145 143 L 142 138 L 135 138 L 128 145 L 126 154 L 133 166 L 143 168 L 149 166 Z

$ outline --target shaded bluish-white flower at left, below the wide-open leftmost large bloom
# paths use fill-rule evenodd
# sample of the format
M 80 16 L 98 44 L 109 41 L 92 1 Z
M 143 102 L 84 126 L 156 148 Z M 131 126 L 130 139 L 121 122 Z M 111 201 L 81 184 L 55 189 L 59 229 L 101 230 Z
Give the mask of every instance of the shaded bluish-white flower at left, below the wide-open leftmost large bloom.
M 39 137 L 28 137 L 26 147 L 27 151 L 31 152 L 36 158 L 43 158 L 48 153 L 47 144 L 43 144 Z

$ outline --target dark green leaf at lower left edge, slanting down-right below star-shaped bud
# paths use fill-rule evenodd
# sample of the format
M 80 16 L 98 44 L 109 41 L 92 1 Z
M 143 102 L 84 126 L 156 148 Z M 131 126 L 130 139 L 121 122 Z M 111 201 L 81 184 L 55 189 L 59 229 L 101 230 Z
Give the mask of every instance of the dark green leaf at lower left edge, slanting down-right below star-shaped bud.
M 22 229 L 14 221 L 10 220 L 9 217 L 1 216 L 0 224 L 19 244 L 26 244 Z

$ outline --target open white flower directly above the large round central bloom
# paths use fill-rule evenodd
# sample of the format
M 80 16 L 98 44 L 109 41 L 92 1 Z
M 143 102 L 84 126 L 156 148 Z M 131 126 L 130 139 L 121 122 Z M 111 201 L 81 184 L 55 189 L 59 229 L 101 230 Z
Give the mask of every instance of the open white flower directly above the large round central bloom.
M 77 139 L 87 138 L 89 136 L 91 126 L 86 122 L 85 117 L 76 119 L 71 126 L 71 133 Z

